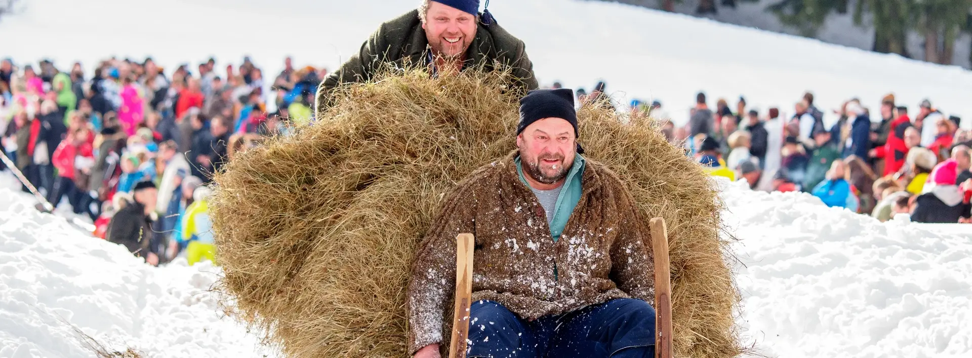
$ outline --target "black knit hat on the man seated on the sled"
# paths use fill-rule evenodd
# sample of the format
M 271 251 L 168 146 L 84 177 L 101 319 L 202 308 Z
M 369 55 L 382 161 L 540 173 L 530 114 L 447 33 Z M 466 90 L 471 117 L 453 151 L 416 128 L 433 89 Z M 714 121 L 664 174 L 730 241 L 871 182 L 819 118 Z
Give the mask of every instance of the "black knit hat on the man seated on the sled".
M 573 125 L 573 135 L 578 136 L 577 111 L 573 109 L 573 90 L 531 90 L 520 98 L 520 124 L 516 134 L 528 125 L 544 118 L 560 118 Z

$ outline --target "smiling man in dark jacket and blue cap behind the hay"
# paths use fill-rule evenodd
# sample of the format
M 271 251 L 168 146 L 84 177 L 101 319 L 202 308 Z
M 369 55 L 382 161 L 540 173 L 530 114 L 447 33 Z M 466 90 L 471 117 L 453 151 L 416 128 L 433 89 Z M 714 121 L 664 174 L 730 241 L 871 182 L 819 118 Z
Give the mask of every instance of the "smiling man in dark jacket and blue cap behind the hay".
M 463 71 L 496 62 L 509 66 L 514 84 L 536 90 L 534 64 L 523 41 L 510 35 L 479 0 L 423 0 L 419 9 L 382 23 L 317 90 L 317 111 L 330 106 L 330 92 L 341 84 L 365 82 L 386 63 L 428 65 L 433 73 Z

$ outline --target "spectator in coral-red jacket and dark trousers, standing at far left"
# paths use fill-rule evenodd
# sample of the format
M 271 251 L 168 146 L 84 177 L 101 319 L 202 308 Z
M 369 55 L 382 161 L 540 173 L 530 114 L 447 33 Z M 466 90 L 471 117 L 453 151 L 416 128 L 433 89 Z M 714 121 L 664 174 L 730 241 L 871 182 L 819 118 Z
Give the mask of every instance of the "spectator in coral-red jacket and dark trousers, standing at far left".
M 91 143 L 87 141 L 88 133 L 85 127 L 72 127 L 67 137 L 61 141 L 57 149 L 54 150 L 52 163 L 57 168 L 57 179 L 54 181 L 54 188 L 48 201 L 54 207 L 60 202 L 61 198 L 67 196 L 68 202 L 76 214 L 84 212 L 80 204 L 84 192 L 78 190 L 74 184 L 75 161 L 77 157 L 93 160 L 91 153 Z

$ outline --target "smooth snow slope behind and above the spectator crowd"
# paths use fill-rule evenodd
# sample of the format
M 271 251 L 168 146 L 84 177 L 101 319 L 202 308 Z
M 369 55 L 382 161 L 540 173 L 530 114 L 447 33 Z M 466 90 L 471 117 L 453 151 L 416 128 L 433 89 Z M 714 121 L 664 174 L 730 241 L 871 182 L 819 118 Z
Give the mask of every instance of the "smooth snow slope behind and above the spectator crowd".
M 417 3 L 34 0 L 0 22 L 0 38 L 5 55 L 17 61 L 51 57 L 62 68 L 74 60 L 92 68 L 107 54 L 151 55 L 170 71 L 183 61 L 194 70 L 215 55 L 225 68 L 251 54 L 269 82 L 287 54 L 295 65 L 337 67 L 382 21 Z M 813 90 L 825 111 L 857 96 L 875 114 L 882 96 L 894 91 L 913 111 L 927 97 L 972 127 L 972 72 L 956 66 L 615 3 L 497 0 L 490 11 L 527 44 L 541 83 L 590 90 L 605 79 L 617 102 L 660 99 L 678 123 L 687 120 L 698 90 L 710 94 L 711 105 L 744 94 L 764 113 L 781 106 L 784 114 L 804 90 Z

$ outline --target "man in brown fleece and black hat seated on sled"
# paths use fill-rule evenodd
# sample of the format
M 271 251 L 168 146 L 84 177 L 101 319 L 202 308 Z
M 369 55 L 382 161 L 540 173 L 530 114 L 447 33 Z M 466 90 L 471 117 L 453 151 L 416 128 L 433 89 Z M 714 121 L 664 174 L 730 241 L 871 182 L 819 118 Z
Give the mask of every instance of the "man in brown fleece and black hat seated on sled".
M 439 355 L 459 233 L 475 235 L 468 357 L 654 356 L 649 233 L 576 136 L 573 91 L 533 90 L 520 100 L 518 150 L 445 198 L 408 286 L 415 357 Z

